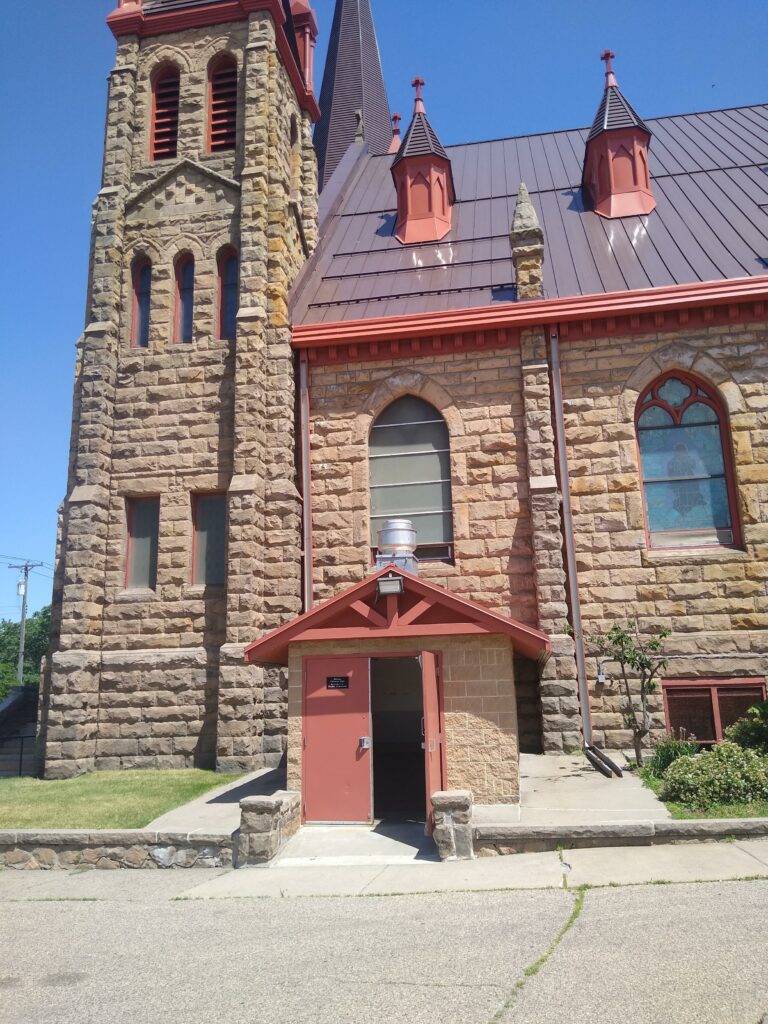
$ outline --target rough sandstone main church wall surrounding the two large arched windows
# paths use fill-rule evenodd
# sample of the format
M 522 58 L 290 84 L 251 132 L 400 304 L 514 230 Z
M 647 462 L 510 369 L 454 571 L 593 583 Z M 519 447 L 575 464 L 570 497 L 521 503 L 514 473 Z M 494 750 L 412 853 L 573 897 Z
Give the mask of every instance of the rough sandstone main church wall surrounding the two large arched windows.
M 713 328 L 629 338 L 561 340 L 569 480 L 586 632 L 638 618 L 671 626 L 668 675 L 768 671 L 768 332 Z M 732 431 L 743 550 L 648 547 L 635 439 L 640 392 L 674 368 L 720 390 Z M 444 416 L 452 445 L 454 564 L 422 574 L 543 629 L 553 656 L 521 665 L 518 713 L 527 750 L 581 743 L 573 644 L 562 556 L 549 352 L 543 334 L 520 346 L 311 369 L 315 595 L 370 571 L 368 437 L 403 393 Z M 610 677 L 611 667 L 607 673 Z M 615 668 L 615 667 L 612 667 Z M 597 667 L 588 665 L 590 680 Z M 591 683 L 595 740 L 631 745 L 623 697 Z M 655 730 L 664 727 L 660 693 Z M 539 745 L 537 744 L 539 730 Z

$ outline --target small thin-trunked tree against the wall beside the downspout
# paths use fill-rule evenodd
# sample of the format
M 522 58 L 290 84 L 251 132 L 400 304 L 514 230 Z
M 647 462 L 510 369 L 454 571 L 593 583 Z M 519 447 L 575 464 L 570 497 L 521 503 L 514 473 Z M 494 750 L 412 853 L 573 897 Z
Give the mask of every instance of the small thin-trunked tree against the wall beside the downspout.
M 650 732 L 651 717 L 648 697 L 658 689 L 662 672 L 669 665 L 664 656 L 664 642 L 672 630 L 662 629 L 655 636 L 643 636 L 637 623 L 627 628 L 614 625 L 607 633 L 587 637 L 591 652 L 602 663 L 615 663 L 621 669 L 622 687 L 626 698 L 624 719 L 632 729 L 632 742 L 638 765 L 643 763 L 643 740 Z M 632 692 L 631 680 L 637 679 L 638 693 Z M 639 700 L 639 707 L 638 707 Z

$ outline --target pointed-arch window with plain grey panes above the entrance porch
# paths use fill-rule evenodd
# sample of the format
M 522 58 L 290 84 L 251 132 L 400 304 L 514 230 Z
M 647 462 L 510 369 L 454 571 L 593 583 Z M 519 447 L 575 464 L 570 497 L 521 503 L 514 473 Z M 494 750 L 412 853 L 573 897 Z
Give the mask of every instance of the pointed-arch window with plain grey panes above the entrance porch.
M 406 395 L 374 423 L 370 441 L 371 544 L 386 519 L 413 520 L 420 558 L 452 556 L 451 441 L 429 402 Z

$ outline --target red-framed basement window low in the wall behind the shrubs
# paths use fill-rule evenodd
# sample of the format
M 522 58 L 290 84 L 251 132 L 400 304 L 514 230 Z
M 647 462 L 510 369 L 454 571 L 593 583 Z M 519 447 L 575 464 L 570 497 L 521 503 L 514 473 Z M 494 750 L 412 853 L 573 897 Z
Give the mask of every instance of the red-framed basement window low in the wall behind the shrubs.
M 666 679 L 662 685 L 667 731 L 705 745 L 718 743 L 725 730 L 750 708 L 765 700 L 765 683 L 741 679 Z

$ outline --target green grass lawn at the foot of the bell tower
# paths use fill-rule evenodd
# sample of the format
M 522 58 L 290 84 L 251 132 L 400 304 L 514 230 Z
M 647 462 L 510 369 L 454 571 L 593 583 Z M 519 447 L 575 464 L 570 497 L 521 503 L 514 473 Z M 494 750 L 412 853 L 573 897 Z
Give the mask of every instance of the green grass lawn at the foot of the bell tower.
M 0 828 L 143 828 L 240 777 L 189 769 L 92 772 L 57 782 L 2 778 Z

